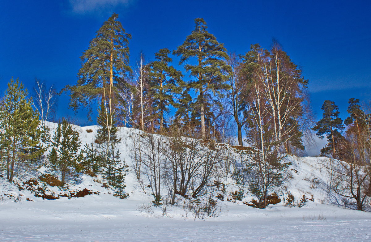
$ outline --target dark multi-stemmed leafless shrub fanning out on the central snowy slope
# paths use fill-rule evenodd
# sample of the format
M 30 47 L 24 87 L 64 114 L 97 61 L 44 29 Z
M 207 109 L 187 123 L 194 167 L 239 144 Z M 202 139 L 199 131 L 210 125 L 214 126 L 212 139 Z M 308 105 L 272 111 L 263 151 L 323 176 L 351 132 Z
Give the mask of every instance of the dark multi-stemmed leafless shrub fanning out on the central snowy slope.
M 198 139 L 182 137 L 182 129 L 176 124 L 170 130 L 166 156 L 172 202 L 175 194 L 196 198 L 213 191 L 221 183 L 219 175 L 226 161 L 226 150 L 214 141 L 204 144 Z

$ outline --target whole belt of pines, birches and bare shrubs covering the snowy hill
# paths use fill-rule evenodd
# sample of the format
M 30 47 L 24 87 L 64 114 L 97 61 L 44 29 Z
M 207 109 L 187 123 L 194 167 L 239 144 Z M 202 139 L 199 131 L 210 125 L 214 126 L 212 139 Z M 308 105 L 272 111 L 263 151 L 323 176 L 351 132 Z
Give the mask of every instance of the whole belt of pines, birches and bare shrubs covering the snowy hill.
M 100 128 L 92 144 L 82 147 L 78 132 L 64 119 L 49 134 L 43 121 L 55 110 L 53 87 L 36 80 L 32 99 L 18 80 L 9 83 L 0 109 L 1 172 L 9 181 L 16 166 L 42 160 L 59 172 L 63 185 L 76 172 L 99 174 L 125 198 L 129 169 L 120 159 L 118 127 L 133 127 L 142 133 L 131 135 L 132 169 L 144 192 L 149 183 L 155 206 L 164 206 L 163 194 L 171 205 L 177 196 L 197 203 L 208 197 L 203 206 L 211 214 L 214 193 L 225 186 L 220 177 L 233 173 L 237 184 L 256 197 L 253 205 L 264 208 L 270 193 L 290 179 L 290 163 L 283 158 L 301 154 L 315 130 L 329 141 L 321 150 L 333 158 L 324 164 L 331 173 L 329 189 L 355 199 L 362 210 L 371 194 L 371 127 L 370 112 L 358 99 L 349 100 L 345 122 L 334 102 L 326 100 L 315 123 L 308 80 L 276 40 L 270 49 L 253 44 L 244 54 L 229 53 L 201 18 L 173 52 L 160 49 L 153 61 L 141 53 L 132 67 L 131 35 L 117 18 L 112 14 L 97 31 L 81 56 L 77 83 L 62 90 L 75 111 L 89 107 L 89 119 L 98 107 Z M 180 57 L 184 72 L 173 65 L 171 53 Z M 244 141 L 249 144 L 242 148 L 244 166 L 218 144 L 233 145 L 234 136 L 240 149 Z

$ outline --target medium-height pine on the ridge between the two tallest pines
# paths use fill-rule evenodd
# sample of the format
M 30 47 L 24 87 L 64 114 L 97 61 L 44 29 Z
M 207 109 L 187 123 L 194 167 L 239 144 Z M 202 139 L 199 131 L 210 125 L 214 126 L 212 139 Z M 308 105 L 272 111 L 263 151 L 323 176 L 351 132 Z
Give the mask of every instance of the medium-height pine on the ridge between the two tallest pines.
M 169 63 L 173 61 L 168 55 L 170 50 L 160 49 L 155 53 L 156 61 L 150 65 L 149 79 L 154 99 L 155 116 L 160 120 L 160 130 L 164 127 L 164 114 L 169 112 L 169 105 L 175 106 L 175 95 L 180 94 L 182 88 L 182 73 Z

